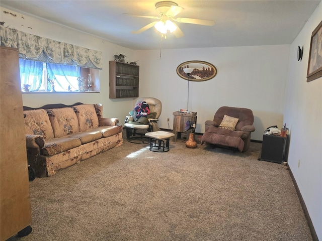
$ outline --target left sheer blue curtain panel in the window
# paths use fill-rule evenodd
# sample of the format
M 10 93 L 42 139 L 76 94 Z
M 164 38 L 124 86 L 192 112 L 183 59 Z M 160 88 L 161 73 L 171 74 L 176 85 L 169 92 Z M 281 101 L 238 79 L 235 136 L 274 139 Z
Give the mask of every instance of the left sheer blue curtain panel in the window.
M 38 90 L 42 82 L 43 63 L 19 59 L 19 65 L 21 88 L 25 91 L 27 91 L 27 89 L 29 89 L 29 91 Z

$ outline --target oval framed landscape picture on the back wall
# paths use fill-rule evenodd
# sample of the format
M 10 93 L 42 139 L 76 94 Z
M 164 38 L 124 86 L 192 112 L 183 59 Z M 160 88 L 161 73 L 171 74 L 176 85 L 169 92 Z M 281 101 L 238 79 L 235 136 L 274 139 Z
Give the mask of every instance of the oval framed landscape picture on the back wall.
M 205 81 L 212 79 L 217 74 L 217 69 L 213 64 L 192 60 L 183 62 L 177 67 L 177 74 L 186 80 L 188 80 L 188 75 L 183 71 L 184 68 L 193 68 L 192 73 L 189 75 L 189 81 Z

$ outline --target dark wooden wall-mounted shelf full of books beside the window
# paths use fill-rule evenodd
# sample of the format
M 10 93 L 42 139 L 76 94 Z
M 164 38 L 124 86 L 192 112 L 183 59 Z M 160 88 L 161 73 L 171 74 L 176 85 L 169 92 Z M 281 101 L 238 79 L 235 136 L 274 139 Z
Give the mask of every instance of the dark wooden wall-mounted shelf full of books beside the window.
M 139 97 L 140 67 L 110 61 L 110 98 Z

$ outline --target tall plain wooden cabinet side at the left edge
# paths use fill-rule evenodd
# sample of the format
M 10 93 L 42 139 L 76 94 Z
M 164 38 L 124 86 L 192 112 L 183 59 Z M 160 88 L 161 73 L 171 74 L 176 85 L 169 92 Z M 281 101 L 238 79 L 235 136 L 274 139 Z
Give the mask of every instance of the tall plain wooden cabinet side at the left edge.
M 18 50 L 0 47 L 0 240 L 31 231 Z

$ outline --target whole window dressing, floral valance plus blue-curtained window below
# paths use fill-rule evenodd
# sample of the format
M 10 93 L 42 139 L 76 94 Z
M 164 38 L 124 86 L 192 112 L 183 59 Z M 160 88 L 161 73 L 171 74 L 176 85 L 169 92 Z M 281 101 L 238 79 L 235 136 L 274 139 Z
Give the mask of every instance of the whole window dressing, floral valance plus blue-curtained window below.
M 0 45 L 18 48 L 24 92 L 99 92 L 102 52 L 0 25 Z M 92 81 L 88 81 L 89 77 Z M 84 87 L 85 86 L 85 87 Z

